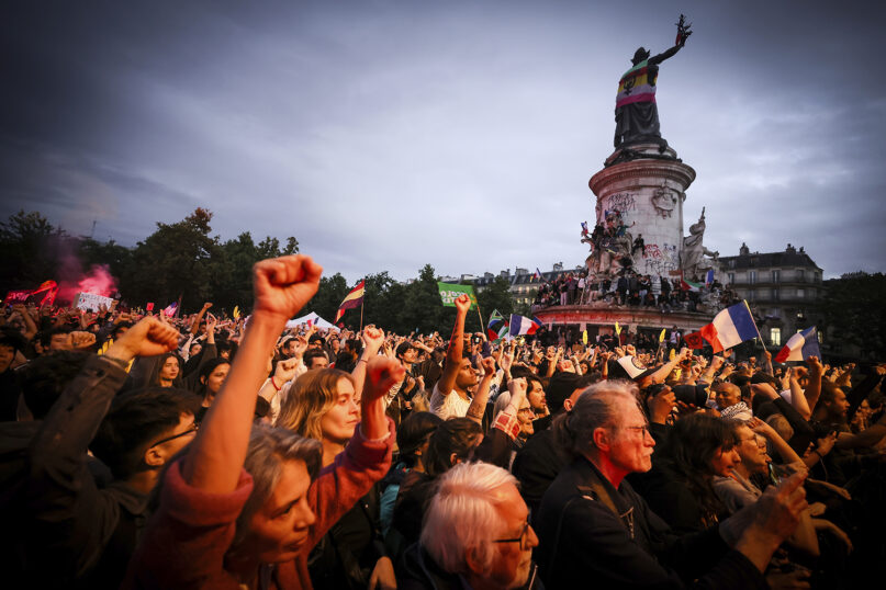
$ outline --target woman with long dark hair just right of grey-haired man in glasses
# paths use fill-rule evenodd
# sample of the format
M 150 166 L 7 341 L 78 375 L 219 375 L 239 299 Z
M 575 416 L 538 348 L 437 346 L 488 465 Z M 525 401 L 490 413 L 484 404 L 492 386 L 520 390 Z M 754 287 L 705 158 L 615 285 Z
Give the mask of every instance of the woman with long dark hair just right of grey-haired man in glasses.
M 714 490 L 714 477 L 729 477 L 741 462 L 734 427 L 705 413 L 682 418 L 671 429 L 642 490 L 653 512 L 676 533 L 704 531 L 727 511 Z

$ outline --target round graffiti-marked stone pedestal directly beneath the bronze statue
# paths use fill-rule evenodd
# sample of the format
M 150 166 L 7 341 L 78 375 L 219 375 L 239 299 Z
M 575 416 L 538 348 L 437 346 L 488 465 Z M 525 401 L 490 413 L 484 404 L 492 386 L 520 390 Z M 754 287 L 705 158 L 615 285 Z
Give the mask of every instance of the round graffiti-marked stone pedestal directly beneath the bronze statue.
M 631 239 L 642 235 L 646 242 L 646 251 L 632 256 L 635 270 L 668 276 L 680 269 L 683 202 L 695 170 L 676 159 L 673 149 L 661 154 L 654 144 L 631 146 L 628 158 L 623 151 L 607 160 L 618 163 L 609 163 L 588 182 L 597 197 L 596 223 L 604 222 L 606 212 L 620 212 Z

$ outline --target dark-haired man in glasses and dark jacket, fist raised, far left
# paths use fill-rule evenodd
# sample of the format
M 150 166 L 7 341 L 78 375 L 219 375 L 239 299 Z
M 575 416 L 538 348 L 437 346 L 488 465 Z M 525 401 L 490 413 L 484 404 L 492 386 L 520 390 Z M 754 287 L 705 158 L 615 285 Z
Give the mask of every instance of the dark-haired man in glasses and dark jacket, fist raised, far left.
M 120 586 L 150 490 L 194 436 L 200 398 L 172 387 L 116 394 L 133 359 L 177 344 L 175 328 L 144 318 L 67 384 L 27 446 L 26 479 L 4 491 L 4 523 L 15 531 L 7 540 L 15 546 L 0 552 L 14 561 L 4 568 L 10 587 Z M 88 451 L 110 480 L 93 476 Z

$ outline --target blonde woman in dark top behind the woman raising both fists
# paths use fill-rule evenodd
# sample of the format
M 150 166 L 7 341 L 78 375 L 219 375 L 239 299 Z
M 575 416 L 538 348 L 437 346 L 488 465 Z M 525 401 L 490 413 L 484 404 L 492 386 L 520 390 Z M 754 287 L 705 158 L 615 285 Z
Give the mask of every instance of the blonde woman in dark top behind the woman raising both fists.
M 359 423 L 354 377 L 336 368 L 309 371 L 295 379 L 277 419 L 278 427 L 319 441 L 323 467 L 345 450 Z M 366 588 L 377 579 L 396 583 L 379 524 L 380 496 L 379 487 L 372 486 L 311 553 L 314 588 Z

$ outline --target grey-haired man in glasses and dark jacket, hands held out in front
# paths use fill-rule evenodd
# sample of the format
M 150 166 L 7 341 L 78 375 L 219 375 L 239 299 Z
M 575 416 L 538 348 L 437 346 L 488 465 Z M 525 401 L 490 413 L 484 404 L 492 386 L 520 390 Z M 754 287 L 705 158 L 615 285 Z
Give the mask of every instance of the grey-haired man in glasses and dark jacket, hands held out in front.
M 532 518 L 546 588 L 766 588 L 762 572 L 807 506 L 804 475 L 681 536 L 625 480 L 651 468 L 655 445 L 636 385 L 592 385 L 554 429 L 572 463 Z

